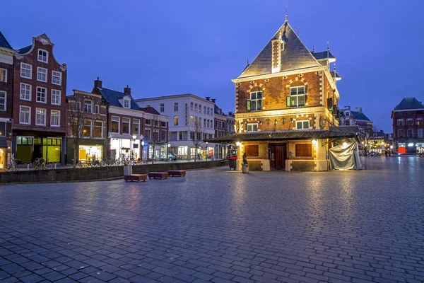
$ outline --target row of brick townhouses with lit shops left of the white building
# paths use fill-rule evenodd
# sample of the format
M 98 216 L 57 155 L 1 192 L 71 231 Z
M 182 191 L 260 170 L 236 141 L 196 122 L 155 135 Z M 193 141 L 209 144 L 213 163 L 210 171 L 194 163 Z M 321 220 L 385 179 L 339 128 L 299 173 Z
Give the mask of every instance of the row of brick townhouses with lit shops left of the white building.
M 66 96 L 66 64 L 53 47 L 42 34 L 14 50 L 0 32 L 0 168 L 11 156 L 62 164 L 74 156 L 167 158 L 169 117 L 139 107 L 128 86 L 113 91 L 99 79 L 91 92 Z

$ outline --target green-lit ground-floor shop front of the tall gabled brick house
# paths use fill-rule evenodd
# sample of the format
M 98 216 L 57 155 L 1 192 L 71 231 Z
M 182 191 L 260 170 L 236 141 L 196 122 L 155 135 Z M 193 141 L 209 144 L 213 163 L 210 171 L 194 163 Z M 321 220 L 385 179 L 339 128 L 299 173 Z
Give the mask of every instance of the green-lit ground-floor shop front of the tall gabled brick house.
M 63 137 L 16 136 L 15 144 L 15 158 L 20 163 L 33 163 L 36 158 L 61 163 L 66 149 Z

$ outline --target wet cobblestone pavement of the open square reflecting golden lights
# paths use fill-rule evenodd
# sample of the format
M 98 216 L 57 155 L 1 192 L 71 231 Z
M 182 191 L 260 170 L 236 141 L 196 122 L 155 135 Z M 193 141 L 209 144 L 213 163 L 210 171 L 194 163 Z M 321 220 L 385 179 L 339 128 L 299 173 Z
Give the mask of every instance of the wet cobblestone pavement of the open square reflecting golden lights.
M 424 282 L 424 158 L 0 187 L 0 282 Z

